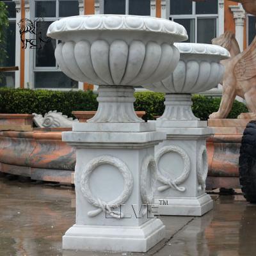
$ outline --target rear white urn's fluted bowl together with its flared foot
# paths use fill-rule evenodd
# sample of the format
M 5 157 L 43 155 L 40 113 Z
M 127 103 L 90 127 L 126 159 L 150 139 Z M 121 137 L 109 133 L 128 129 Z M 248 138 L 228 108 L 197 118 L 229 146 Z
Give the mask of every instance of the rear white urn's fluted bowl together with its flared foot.
M 180 51 L 180 60 L 175 70 L 165 79 L 148 84 L 145 88 L 166 93 L 164 113 L 157 120 L 198 120 L 191 109 L 191 93 L 204 92 L 217 86 L 225 71 L 220 61 L 229 58 L 230 54 L 219 45 L 174 45 Z

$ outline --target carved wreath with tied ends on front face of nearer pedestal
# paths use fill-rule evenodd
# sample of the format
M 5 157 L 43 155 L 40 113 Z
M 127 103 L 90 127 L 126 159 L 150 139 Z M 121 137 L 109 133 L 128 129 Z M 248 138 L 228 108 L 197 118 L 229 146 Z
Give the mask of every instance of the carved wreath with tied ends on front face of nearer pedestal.
M 90 189 L 90 175 L 95 170 L 95 168 L 102 164 L 111 164 L 115 166 L 124 177 L 124 190 L 122 191 L 121 195 L 119 195 L 115 200 L 112 200 L 111 202 L 104 202 L 100 198 L 96 198 L 93 196 Z M 100 212 L 106 212 L 113 218 L 123 218 L 124 215 L 122 212 L 115 211 L 115 209 L 127 201 L 132 193 L 132 187 L 132 173 L 122 160 L 108 155 L 95 157 L 88 164 L 86 164 L 86 167 L 84 168 L 81 175 L 81 191 L 84 197 L 90 204 L 98 208 L 96 210 L 89 211 L 88 216 L 94 217 L 100 214 Z

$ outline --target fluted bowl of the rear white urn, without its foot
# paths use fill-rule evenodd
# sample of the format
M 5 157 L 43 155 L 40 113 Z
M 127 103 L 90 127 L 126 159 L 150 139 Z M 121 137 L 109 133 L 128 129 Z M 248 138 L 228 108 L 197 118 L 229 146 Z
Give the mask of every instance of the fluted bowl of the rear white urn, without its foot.
M 220 61 L 230 58 L 229 52 L 210 44 L 176 43 L 180 60 L 175 70 L 161 82 L 145 86 L 165 93 L 205 92 L 220 83 L 224 67 Z

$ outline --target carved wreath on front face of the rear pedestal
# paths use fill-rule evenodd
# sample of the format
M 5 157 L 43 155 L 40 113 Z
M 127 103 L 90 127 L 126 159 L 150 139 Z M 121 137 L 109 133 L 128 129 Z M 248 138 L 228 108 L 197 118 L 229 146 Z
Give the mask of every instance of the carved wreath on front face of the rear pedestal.
M 164 154 L 167 154 L 170 152 L 179 154 L 184 161 L 184 170 L 180 174 L 180 176 L 177 177 L 176 179 L 172 179 L 171 177 L 164 176 L 161 170 L 159 169 L 159 160 Z M 179 185 L 182 184 L 186 179 L 188 179 L 189 172 L 190 172 L 190 165 L 191 164 L 190 164 L 189 156 L 186 153 L 186 151 L 183 150 L 182 148 L 177 146 L 166 146 L 161 148 L 156 154 L 157 180 L 163 183 L 164 186 L 160 186 L 159 188 L 157 188 L 157 190 L 161 192 L 166 189 L 172 188 L 172 189 L 177 189 L 180 192 L 186 191 L 185 187 L 182 187 Z

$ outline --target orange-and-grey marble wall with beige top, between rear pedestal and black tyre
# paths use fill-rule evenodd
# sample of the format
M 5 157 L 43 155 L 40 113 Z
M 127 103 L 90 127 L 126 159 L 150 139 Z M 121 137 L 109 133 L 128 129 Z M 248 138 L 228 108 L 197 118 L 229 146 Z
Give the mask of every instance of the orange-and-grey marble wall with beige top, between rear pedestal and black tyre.
M 209 119 L 214 135 L 207 140 L 209 188 L 239 188 L 239 150 L 250 119 Z M 217 186 L 217 187 L 214 187 Z

